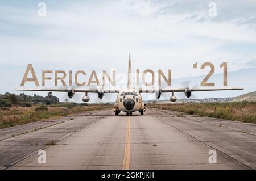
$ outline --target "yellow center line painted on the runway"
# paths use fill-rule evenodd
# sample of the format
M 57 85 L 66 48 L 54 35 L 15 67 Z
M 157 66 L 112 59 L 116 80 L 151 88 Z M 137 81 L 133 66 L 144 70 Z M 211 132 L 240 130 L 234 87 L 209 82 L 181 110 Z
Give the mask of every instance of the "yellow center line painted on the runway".
M 130 121 L 131 118 L 128 117 L 127 120 L 127 132 L 125 140 L 125 155 L 123 157 L 123 170 L 129 170 L 130 168 Z

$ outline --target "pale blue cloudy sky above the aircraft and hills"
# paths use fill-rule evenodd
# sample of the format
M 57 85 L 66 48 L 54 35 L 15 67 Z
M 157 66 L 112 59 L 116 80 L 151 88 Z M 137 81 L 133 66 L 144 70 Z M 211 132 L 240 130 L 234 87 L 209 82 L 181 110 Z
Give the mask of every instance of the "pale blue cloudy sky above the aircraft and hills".
M 40 2 L 46 5 L 46 16 L 38 14 Z M 0 94 L 20 93 L 14 89 L 28 64 L 40 85 L 42 70 L 84 70 L 88 81 L 92 70 L 126 73 L 129 53 L 133 71 L 171 69 L 174 80 L 204 78 L 209 68 L 193 69 L 195 62 L 199 66 L 211 62 L 214 74 L 221 74 L 220 64 L 228 62 L 228 86 L 237 87 L 248 81 L 244 70 L 256 68 L 255 1 L 0 1 L 0 5 Z M 240 81 L 229 75 L 239 75 Z M 216 81 L 221 85 L 221 78 Z M 53 81 L 46 85 L 52 87 Z M 35 86 L 26 83 L 28 87 Z

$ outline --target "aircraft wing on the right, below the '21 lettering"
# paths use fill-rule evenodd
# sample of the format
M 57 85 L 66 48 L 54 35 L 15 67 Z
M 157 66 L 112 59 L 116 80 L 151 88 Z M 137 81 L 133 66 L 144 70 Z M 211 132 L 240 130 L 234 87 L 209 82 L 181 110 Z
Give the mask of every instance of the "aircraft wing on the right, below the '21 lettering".
M 139 92 L 141 93 L 154 93 L 158 90 L 161 92 L 184 92 L 185 90 L 188 90 L 189 88 L 172 88 L 172 87 L 166 87 L 162 89 L 139 89 Z M 204 87 L 196 87 L 191 88 L 191 91 L 223 91 L 223 90 L 243 90 L 242 87 L 221 87 L 221 88 L 204 88 Z

